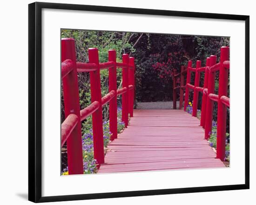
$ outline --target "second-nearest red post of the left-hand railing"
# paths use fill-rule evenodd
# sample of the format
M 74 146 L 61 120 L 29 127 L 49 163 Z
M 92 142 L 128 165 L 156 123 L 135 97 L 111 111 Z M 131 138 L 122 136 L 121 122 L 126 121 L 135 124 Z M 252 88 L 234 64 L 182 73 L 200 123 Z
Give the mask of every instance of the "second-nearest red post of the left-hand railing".
M 104 143 L 102 127 L 101 76 L 97 48 L 89 48 L 89 63 L 97 64 L 97 70 L 90 72 L 91 102 L 100 103 L 100 108 L 93 113 L 94 159 L 98 164 L 104 163 Z

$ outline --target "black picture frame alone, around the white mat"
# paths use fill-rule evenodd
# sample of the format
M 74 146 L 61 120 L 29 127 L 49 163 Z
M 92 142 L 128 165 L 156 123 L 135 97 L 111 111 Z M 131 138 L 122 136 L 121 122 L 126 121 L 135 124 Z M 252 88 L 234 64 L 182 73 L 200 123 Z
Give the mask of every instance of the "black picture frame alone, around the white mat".
M 143 190 L 129 192 L 108 192 L 77 195 L 42 197 L 42 56 L 41 56 L 41 11 L 43 8 L 80 10 L 93 12 L 130 13 L 162 15 L 190 18 L 230 19 L 245 21 L 245 183 L 228 186 L 188 187 L 160 190 Z M 28 5 L 28 200 L 32 202 L 53 202 L 81 199 L 102 199 L 117 197 L 134 197 L 189 192 L 211 192 L 224 190 L 249 189 L 249 16 L 166 11 L 141 8 L 124 8 L 110 6 L 88 6 L 75 4 L 58 4 L 35 2 Z

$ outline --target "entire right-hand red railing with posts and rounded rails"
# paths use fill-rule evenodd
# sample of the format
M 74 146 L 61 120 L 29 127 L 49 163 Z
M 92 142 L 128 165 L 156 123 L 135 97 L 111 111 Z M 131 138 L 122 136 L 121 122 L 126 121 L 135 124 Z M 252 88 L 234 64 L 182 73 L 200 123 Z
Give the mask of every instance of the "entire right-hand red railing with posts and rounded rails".
M 218 95 L 215 94 L 215 77 L 216 71 L 219 71 L 219 90 Z M 229 79 L 229 47 L 221 48 L 220 62 L 216 63 L 216 56 L 210 56 L 206 59 L 206 66 L 201 67 L 201 61 L 196 61 L 195 68 L 192 67 L 192 61 L 187 66 L 187 81 L 184 86 L 184 66 L 181 67 L 181 73 L 176 74 L 174 70 L 174 88 L 173 88 L 173 107 L 176 109 L 176 89 L 180 89 L 180 109 L 182 109 L 183 89 L 186 89 L 184 111 L 189 105 L 189 90 L 193 90 L 193 111 L 192 116 L 197 116 L 198 93 L 202 92 L 202 108 L 200 125 L 205 129 L 205 139 L 209 139 L 212 131 L 213 120 L 213 102 L 218 103 L 217 112 L 217 153 L 216 158 L 222 161 L 225 158 L 226 147 L 226 120 L 227 107 L 229 107 L 228 95 L 228 79 Z M 190 84 L 191 72 L 195 72 L 195 84 Z M 200 74 L 205 72 L 203 87 L 199 86 Z M 181 85 L 176 87 L 176 78 L 181 76 Z

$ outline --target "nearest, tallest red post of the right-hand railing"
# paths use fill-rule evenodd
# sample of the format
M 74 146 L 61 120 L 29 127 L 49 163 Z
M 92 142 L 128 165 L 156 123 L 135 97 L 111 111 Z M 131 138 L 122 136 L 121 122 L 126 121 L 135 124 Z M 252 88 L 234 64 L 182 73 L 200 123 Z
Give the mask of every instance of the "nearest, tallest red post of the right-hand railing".
M 220 76 L 219 76 L 219 100 L 218 100 L 218 118 L 217 118 L 217 155 L 216 158 L 224 160 L 226 148 L 226 120 L 227 107 L 221 101 L 222 96 L 228 95 L 229 71 L 224 68 L 223 62 L 229 60 L 229 47 L 222 46 L 220 58 Z

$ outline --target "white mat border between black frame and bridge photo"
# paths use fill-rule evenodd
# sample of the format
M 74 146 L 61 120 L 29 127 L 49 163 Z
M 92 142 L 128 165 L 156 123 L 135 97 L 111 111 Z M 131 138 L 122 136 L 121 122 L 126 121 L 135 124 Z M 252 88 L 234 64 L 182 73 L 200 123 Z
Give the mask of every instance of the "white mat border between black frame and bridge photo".
M 43 9 L 42 196 L 244 184 L 244 26 L 234 20 Z M 61 177 L 60 28 L 230 36 L 231 167 Z

